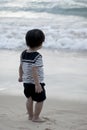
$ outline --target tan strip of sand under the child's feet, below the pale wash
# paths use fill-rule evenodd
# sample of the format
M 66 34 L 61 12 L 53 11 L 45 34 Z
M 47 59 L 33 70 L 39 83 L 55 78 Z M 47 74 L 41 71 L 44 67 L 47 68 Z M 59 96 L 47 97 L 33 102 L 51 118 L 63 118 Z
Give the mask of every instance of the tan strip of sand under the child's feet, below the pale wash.
M 87 103 L 47 99 L 41 117 L 28 120 L 23 96 L 0 96 L 0 130 L 87 130 Z

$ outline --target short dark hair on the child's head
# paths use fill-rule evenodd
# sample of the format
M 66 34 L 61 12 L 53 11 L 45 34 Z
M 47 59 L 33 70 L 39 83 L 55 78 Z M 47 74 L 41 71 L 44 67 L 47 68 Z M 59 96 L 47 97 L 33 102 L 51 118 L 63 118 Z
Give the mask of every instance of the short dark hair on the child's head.
M 30 48 L 39 47 L 45 40 L 44 33 L 39 29 L 32 29 L 26 33 L 26 45 Z

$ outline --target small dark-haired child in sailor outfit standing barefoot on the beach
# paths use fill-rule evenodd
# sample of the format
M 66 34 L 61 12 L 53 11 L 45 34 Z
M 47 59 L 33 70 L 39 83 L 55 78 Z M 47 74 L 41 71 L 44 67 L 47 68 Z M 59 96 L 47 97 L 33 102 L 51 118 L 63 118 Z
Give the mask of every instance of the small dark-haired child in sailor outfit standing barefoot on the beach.
M 43 102 L 46 99 L 46 93 L 44 88 L 42 55 L 37 50 L 42 47 L 45 35 L 41 30 L 33 29 L 27 32 L 25 39 L 28 49 L 21 54 L 19 82 L 23 81 L 29 119 L 34 122 L 40 122 L 42 120 L 39 118 L 39 115 L 43 107 Z M 34 109 L 33 101 L 36 102 Z

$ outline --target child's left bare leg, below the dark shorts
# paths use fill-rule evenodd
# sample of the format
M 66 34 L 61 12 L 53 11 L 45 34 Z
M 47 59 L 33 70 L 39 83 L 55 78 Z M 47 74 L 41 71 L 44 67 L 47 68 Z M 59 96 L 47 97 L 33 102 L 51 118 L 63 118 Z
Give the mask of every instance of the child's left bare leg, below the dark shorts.
M 33 118 L 33 100 L 31 97 L 27 99 L 26 108 L 29 114 L 29 119 L 31 120 Z

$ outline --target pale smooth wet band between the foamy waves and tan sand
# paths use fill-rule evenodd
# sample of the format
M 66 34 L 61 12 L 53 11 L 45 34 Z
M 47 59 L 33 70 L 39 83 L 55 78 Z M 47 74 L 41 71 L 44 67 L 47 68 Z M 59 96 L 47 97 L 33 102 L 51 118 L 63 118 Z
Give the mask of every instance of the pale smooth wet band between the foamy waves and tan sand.
M 87 101 L 87 54 L 62 53 L 41 49 L 45 83 L 49 98 Z M 18 82 L 21 51 L 2 50 L 0 53 L 0 93 L 23 95 Z

